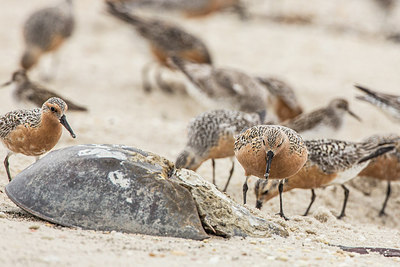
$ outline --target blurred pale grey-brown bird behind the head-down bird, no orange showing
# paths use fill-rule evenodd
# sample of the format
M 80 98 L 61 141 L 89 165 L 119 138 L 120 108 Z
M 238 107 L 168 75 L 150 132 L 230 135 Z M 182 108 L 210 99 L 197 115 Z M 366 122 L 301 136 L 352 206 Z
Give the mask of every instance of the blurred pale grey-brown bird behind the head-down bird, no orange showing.
M 188 94 L 204 105 L 244 112 L 257 112 L 268 106 L 267 90 L 246 73 L 178 57 L 171 57 L 171 61 L 186 77 Z

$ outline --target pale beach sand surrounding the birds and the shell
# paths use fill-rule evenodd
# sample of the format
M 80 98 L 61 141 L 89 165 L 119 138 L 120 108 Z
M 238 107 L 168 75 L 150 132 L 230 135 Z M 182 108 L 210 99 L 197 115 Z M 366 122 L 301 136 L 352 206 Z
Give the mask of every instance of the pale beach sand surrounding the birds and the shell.
M 18 68 L 22 53 L 21 26 L 27 15 L 51 1 L 14 0 L 0 9 L 0 79 L 9 80 Z M 112 143 L 135 146 L 174 160 L 185 144 L 185 128 L 193 116 L 207 107 L 182 93 L 165 94 L 155 89 L 144 94 L 141 69 L 152 60 L 147 43 L 130 27 L 108 16 L 102 1 L 75 1 L 77 28 L 71 40 L 57 53 L 60 64 L 50 82 L 43 75 L 52 66 L 44 57 L 30 73 L 31 79 L 89 108 L 88 113 L 68 112 L 67 118 L 77 134 L 72 139 L 64 131 L 56 148 L 87 143 Z M 212 51 L 218 66 L 242 69 L 251 74 L 275 75 L 296 90 L 305 111 L 344 97 L 362 123 L 348 117 L 336 137 L 360 140 L 374 133 L 399 132 L 400 125 L 388 120 L 354 96 L 354 83 L 399 94 L 400 46 L 386 41 L 382 32 L 400 25 L 400 7 L 391 16 L 374 1 L 314 0 L 304 6 L 298 1 L 248 1 L 258 19 L 240 21 L 230 13 L 187 20 L 179 14 L 170 19 L 200 36 Z M 274 3 L 273 3 L 274 2 Z M 271 22 L 265 14 L 305 14 L 309 25 Z M 165 74 L 179 80 L 179 75 Z M 0 114 L 25 107 L 15 103 L 11 88 L 0 90 Z M 0 155 L 6 150 L 1 147 Z M 33 158 L 16 155 L 10 159 L 11 172 L 29 166 Z M 217 182 L 225 183 L 230 161 L 217 160 Z M 198 173 L 211 181 L 211 163 Z M 0 188 L 7 178 L 0 168 Z M 236 169 L 228 194 L 242 201 L 243 170 Z M 254 194 L 250 183 L 249 208 Z M 316 190 L 317 199 L 308 217 L 300 216 L 308 205 L 308 190 L 293 190 L 284 195 L 284 209 L 290 221 L 275 215 L 278 199 L 264 205 L 259 213 L 284 225 L 289 237 L 231 238 L 211 237 L 205 241 L 105 233 L 70 229 L 36 219 L 17 208 L 0 194 L 1 266 L 365 266 L 400 265 L 398 258 L 376 253 L 359 255 L 343 252 L 335 245 L 399 248 L 400 187 L 393 183 L 388 216 L 378 217 L 386 183 L 378 182 L 369 196 L 350 187 L 347 216 L 337 220 L 343 201 L 340 187 Z M 4 191 L 4 190 L 3 190 Z

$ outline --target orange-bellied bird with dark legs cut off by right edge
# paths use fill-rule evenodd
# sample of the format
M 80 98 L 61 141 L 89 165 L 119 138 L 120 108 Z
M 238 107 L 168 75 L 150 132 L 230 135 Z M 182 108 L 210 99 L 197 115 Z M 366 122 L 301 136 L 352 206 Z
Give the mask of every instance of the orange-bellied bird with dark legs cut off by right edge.
M 400 144 L 400 136 L 396 134 L 373 135 L 364 140 L 364 142 L 390 142 L 394 141 Z M 390 182 L 400 180 L 400 147 L 385 153 L 379 157 L 371 159 L 371 162 L 365 167 L 359 175 L 360 177 L 369 177 L 382 181 L 387 181 L 386 197 L 383 202 L 379 216 L 386 215 L 385 208 L 391 193 Z

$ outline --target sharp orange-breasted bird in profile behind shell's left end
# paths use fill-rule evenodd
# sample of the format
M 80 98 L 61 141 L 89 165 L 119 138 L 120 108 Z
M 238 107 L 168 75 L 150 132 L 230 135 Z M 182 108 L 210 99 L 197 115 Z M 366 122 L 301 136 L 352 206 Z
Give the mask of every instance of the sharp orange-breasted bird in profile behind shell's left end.
M 36 159 L 52 149 L 61 137 L 63 125 L 75 138 L 65 112 L 64 100 L 53 97 L 42 108 L 15 110 L 0 117 L 0 138 L 8 152 L 4 166 L 11 181 L 8 158 L 14 153 L 35 156 Z

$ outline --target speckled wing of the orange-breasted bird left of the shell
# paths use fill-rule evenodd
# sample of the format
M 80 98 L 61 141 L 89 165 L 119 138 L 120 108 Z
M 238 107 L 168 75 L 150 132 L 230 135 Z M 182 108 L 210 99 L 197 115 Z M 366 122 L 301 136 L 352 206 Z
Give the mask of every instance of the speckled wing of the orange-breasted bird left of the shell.
M 17 126 L 25 124 L 36 128 L 41 122 L 41 109 L 15 110 L 0 117 L 0 137 L 5 138 Z

